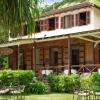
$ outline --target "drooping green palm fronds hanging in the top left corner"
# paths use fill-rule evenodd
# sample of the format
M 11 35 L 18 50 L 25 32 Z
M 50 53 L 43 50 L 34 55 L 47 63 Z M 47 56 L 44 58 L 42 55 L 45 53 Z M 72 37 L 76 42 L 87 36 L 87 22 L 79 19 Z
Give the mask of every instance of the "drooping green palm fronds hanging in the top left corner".
M 39 18 L 41 0 L 0 0 L 0 27 L 10 33 L 22 34 L 27 24 L 28 33 L 34 32 L 35 19 Z

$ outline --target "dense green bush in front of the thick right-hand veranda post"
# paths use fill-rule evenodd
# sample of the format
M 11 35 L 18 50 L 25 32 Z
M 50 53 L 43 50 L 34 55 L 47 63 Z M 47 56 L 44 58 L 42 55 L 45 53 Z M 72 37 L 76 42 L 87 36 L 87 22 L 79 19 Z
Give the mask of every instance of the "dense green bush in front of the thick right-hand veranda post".
M 80 86 L 78 75 L 49 75 L 47 77 L 51 91 L 53 92 L 73 92 L 74 88 Z

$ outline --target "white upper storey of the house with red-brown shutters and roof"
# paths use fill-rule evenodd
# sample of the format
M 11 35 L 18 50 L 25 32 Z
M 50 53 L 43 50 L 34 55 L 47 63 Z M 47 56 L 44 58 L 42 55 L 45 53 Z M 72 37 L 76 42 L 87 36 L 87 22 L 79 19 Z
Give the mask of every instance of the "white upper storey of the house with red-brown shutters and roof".
M 100 11 L 92 4 L 84 3 L 54 10 L 40 17 L 36 22 L 33 38 L 44 38 L 100 29 Z M 24 27 L 23 38 L 27 36 Z

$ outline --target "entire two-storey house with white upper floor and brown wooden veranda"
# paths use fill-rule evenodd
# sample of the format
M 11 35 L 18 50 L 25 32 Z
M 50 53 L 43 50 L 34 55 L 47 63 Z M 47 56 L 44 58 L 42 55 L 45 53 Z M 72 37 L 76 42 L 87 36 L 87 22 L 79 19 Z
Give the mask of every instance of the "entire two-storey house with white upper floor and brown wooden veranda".
M 27 27 L 27 26 L 25 26 Z M 10 38 L 1 45 L 13 49 L 9 55 L 12 69 L 42 73 L 93 72 L 100 68 L 100 7 L 82 3 L 43 14 L 36 22 L 36 34 Z

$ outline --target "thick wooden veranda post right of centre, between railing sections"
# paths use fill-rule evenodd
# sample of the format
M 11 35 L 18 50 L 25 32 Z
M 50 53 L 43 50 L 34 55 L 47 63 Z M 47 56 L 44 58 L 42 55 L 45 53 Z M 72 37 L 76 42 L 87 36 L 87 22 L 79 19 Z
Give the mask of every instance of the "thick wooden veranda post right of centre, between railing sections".
M 71 43 L 70 43 L 70 35 L 68 36 L 68 74 L 71 74 Z

